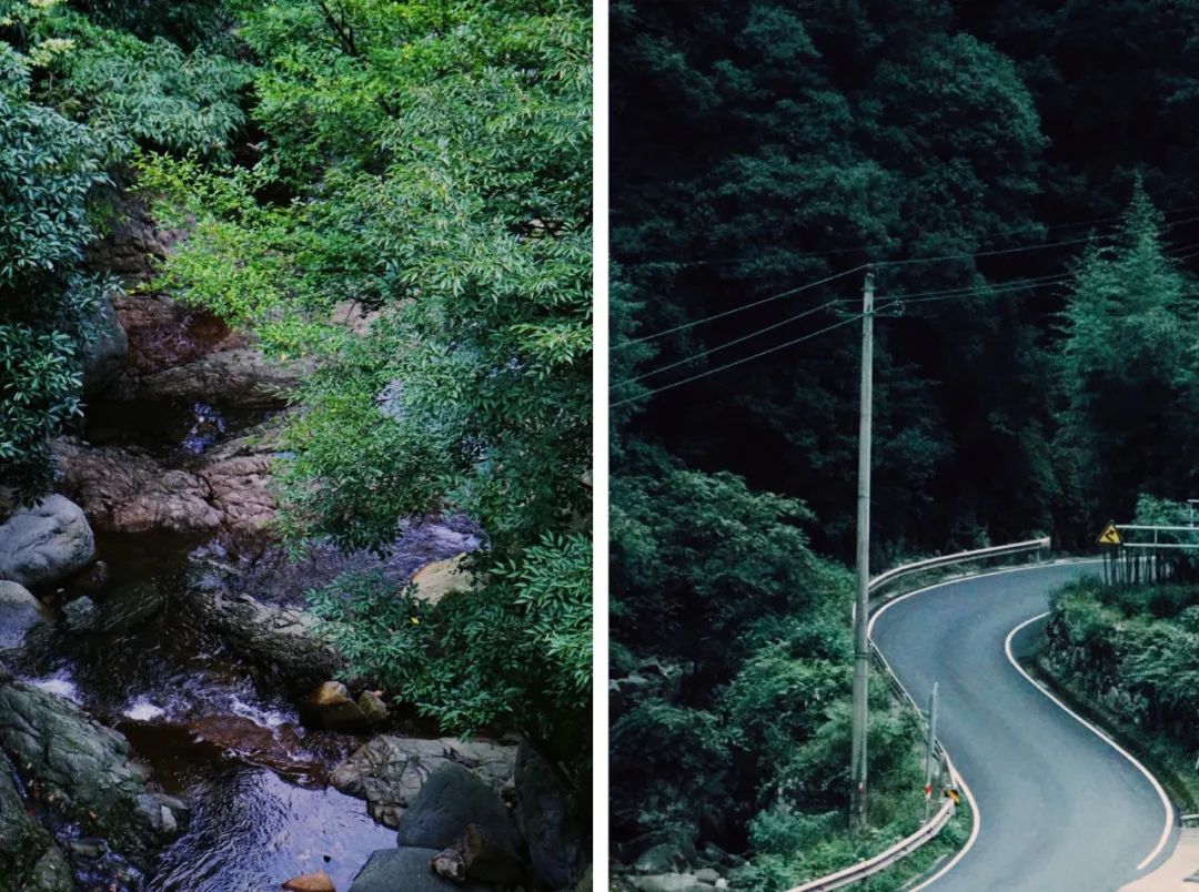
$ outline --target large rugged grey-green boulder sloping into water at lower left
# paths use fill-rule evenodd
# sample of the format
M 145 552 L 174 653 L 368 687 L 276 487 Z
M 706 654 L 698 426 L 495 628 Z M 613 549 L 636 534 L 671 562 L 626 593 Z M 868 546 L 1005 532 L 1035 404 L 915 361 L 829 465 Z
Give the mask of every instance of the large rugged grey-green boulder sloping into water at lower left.
M 0 687 L 0 751 L 47 802 L 138 864 L 179 832 L 186 806 L 152 792 L 129 742 L 60 697 Z

